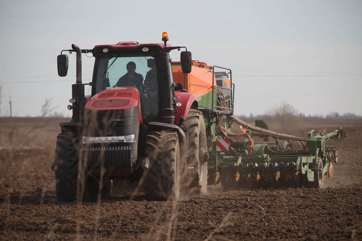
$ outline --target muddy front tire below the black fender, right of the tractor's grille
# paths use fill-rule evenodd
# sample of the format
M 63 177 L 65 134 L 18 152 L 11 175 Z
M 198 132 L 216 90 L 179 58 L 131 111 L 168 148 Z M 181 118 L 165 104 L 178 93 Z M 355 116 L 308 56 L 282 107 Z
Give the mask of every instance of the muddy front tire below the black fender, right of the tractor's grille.
M 148 200 L 177 201 L 180 197 L 180 144 L 176 132 L 150 132 L 145 139 L 144 194 Z

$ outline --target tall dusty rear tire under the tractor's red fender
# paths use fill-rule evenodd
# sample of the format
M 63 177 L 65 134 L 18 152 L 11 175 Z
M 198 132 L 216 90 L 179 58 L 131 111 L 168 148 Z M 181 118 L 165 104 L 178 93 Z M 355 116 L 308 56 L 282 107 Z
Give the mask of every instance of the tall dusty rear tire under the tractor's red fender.
M 204 117 L 201 111 L 190 109 L 185 121 L 181 125 L 181 129 L 186 134 L 186 143 L 190 143 L 190 159 L 194 163 L 194 169 L 191 171 L 191 177 L 188 182 L 184 182 L 185 186 L 190 190 L 187 194 L 200 194 L 207 192 L 207 162 L 205 162 L 204 153 L 207 151 L 206 144 L 206 128 Z M 186 148 L 189 148 L 186 144 Z

